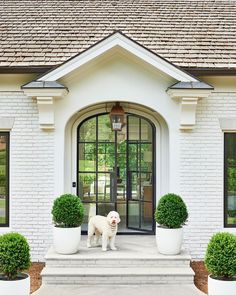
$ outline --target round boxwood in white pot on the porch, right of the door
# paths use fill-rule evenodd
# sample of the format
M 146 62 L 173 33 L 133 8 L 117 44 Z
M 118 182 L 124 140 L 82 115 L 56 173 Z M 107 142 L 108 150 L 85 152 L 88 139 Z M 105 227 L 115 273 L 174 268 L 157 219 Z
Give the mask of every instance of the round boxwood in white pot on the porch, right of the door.
M 187 207 L 175 194 L 164 195 L 156 208 L 156 242 L 161 254 L 176 255 L 181 251 L 183 228 L 188 218 Z

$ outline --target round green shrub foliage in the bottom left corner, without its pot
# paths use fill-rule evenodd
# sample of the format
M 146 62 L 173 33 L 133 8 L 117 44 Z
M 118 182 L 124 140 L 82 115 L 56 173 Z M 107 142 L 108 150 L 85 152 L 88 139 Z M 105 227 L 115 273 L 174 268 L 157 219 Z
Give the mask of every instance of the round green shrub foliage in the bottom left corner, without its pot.
M 0 236 L 0 272 L 8 280 L 16 279 L 30 264 L 30 248 L 25 237 L 18 233 Z

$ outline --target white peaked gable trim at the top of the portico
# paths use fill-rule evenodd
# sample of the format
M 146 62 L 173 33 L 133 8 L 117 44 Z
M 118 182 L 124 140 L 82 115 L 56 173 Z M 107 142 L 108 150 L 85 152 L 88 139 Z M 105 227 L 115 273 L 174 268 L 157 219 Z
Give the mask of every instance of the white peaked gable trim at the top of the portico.
M 122 32 L 117 31 L 108 37 L 97 42 L 87 50 L 79 53 L 75 57 L 69 59 L 65 63 L 59 65 L 57 68 L 44 74 L 37 81 L 56 81 L 70 72 L 78 69 L 82 65 L 95 59 L 96 57 L 108 52 L 113 48 L 122 48 L 129 53 L 135 55 L 137 58 L 152 65 L 161 72 L 181 82 L 197 82 L 198 80 L 181 70 L 177 66 L 171 64 L 164 58 L 128 38 Z

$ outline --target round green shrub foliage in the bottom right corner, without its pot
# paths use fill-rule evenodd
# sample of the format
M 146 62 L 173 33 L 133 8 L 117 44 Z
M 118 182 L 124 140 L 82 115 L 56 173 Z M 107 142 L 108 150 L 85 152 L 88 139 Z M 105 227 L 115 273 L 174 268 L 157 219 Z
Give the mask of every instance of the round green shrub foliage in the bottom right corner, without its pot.
M 205 265 L 214 277 L 236 276 L 236 235 L 231 233 L 213 235 L 207 246 Z

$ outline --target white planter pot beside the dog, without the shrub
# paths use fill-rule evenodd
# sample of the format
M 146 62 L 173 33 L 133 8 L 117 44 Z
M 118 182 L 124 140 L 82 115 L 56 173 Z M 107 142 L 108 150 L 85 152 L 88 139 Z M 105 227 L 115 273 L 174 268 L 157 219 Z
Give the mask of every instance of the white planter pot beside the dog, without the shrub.
M 81 227 L 54 227 L 53 246 L 58 254 L 74 254 L 79 249 Z

